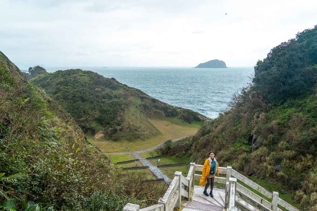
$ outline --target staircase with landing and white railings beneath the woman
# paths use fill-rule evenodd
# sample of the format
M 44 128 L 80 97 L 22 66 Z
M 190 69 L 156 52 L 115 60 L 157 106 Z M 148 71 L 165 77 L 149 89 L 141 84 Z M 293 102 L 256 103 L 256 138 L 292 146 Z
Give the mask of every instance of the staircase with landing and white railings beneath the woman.
M 191 163 L 187 177 L 184 177 L 180 171 L 175 172 L 174 179 L 158 204 L 140 209 L 137 204 L 127 203 L 123 211 L 172 211 L 174 208 L 182 211 L 282 211 L 278 205 L 288 211 L 300 211 L 279 198 L 278 192 L 269 192 L 233 170 L 231 166 L 219 167 L 220 174 L 226 177 L 215 177 L 215 182 L 225 184 L 225 189 L 214 188 L 212 191 L 214 197 L 207 197 L 203 194 L 204 186 L 194 185 L 195 180 L 199 181 L 201 177 L 195 174 L 195 171 L 202 170 L 203 165 Z M 207 193 L 209 191 L 207 189 Z M 266 196 L 268 200 L 257 195 L 256 192 Z

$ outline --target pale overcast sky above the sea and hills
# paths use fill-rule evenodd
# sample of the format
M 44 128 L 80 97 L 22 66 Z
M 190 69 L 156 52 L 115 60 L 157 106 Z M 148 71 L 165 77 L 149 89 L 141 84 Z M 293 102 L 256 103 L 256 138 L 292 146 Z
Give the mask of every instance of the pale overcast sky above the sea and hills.
M 0 0 L 0 51 L 30 66 L 254 66 L 317 25 L 317 1 Z

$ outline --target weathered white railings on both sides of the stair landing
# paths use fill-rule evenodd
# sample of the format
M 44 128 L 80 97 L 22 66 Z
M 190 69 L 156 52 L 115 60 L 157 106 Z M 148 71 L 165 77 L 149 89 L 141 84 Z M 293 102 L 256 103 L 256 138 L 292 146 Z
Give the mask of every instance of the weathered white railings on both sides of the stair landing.
M 140 209 L 137 204 L 127 203 L 123 211 L 171 211 L 174 208 L 180 208 L 181 197 L 184 196 L 186 201 L 191 201 L 194 192 L 194 182 L 201 178 L 201 175 L 195 174 L 195 171 L 203 171 L 203 165 L 191 163 L 187 177 L 184 177 L 182 172 L 176 171 L 173 181 L 166 190 L 165 195 L 159 199 L 158 204 Z M 226 175 L 226 177 L 215 177 L 215 182 L 225 184 L 225 207 L 228 211 L 234 211 L 236 208 L 241 211 L 254 211 L 253 207 L 263 211 L 282 211 L 278 208 L 278 205 L 289 211 L 299 211 L 299 209 L 279 198 L 278 192 L 269 192 L 233 170 L 231 166 L 219 167 L 219 173 Z M 268 197 L 271 202 L 237 183 L 237 180 Z M 184 188 L 182 188 L 182 185 Z

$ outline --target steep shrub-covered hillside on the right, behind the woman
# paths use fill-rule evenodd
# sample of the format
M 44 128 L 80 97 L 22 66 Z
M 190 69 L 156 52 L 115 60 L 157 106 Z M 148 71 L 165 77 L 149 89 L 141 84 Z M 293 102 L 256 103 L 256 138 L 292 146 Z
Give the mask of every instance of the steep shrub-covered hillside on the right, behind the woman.
M 297 190 L 294 201 L 317 210 L 317 26 L 274 47 L 254 70 L 227 112 L 162 153 L 189 152 L 203 163 L 214 151 L 221 166 L 274 181 L 275 191 Z

